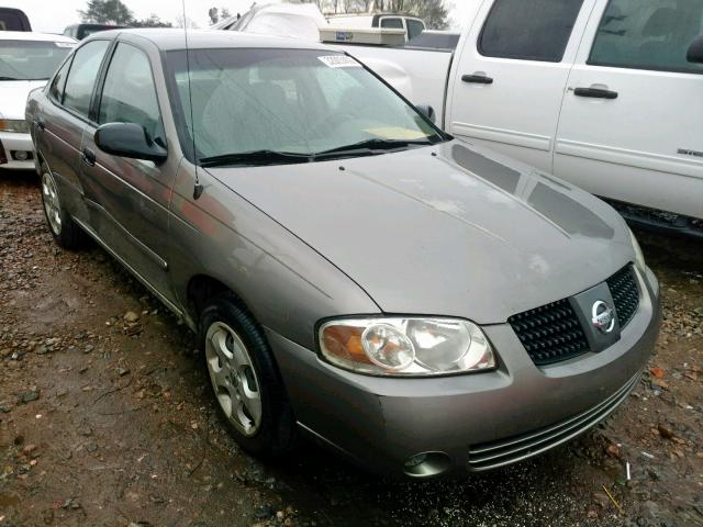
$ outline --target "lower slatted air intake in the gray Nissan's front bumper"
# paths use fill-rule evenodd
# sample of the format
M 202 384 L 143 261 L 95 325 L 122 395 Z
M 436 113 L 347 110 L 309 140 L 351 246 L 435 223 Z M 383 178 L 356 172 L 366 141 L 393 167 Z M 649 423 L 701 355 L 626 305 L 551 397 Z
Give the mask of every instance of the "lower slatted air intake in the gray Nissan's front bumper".
M 637 385 L 637 372 L 627 383 L 601 404 L 581 414 L 527 434 L 469 447 L 469 470 L 496 469 L 543 453 L 561 445 L 607 417 Z

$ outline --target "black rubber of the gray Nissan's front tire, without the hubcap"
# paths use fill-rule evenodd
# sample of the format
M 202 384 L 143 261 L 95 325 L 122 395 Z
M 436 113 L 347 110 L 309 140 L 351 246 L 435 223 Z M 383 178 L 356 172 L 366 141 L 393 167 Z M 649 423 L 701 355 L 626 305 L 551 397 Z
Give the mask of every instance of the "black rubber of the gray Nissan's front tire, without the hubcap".
M 200 316 L 199 343 L 202 365 L 210 381 L 204 354 L 208 329 L 215 322 L 230 326 L 242 339 L 254 366 L 261 397 L 261 423 L 253 436 L 245 436 L 230 424 L 220 404 L 220 415 L 234 439 L 247 451 L 259 456 L 276 456 L 288 451 L 292 440 L 292 413 L 274 354 L 254 317 L 232 296 L 221 295 L 210 301 Z M 212 392 L 214 394 L 214 390 Z

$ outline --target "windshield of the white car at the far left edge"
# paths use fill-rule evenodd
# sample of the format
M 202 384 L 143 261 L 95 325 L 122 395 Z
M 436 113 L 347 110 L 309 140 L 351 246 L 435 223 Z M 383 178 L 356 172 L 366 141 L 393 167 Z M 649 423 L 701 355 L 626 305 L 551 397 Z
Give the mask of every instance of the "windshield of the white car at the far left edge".
M 46 80 L 72 47 L 70 42 L 0 41 L 0 80 Z

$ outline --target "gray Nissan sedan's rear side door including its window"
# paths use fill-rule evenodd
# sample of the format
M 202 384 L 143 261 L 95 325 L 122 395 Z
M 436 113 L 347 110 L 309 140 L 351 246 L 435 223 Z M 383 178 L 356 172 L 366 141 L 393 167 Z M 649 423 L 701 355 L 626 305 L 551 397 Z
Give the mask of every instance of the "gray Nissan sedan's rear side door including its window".
M 110 41 L 93 41 L 78 48 L 59 68 L 48 100 L 37 112 L 34 134 L 38 152 L 58 184 L 71 215 L 89 223 L 80 175 L 80 148 L 89 122 L 89 108 L 100 66 Z

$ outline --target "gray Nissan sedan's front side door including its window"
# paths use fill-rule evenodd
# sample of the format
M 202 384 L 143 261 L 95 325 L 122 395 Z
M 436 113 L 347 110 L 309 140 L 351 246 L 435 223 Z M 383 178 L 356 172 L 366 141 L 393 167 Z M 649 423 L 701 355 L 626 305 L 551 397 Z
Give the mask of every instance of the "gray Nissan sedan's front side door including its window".
M 113 156 L 100 150 L 93 138 L 99 125 L 136 123 L 166 148 L 161 111 L 167 108 L 166 96 L 161 92 L 161 105 L 149 56 L 127 42 L 118 43 L 102 82 L 97 123 L 88 125 L 83 135 L 81 178 L 91 217 L 102 242 L 168 302 L 174 298 L 167 272 L 168 205 L 179 159 L 171 155 L 156 166 Z

